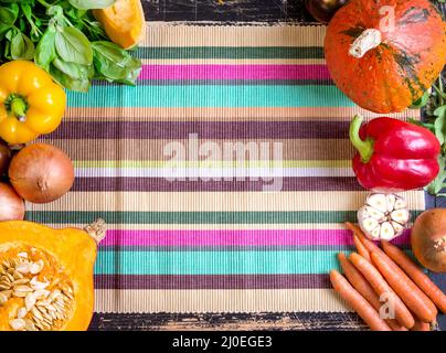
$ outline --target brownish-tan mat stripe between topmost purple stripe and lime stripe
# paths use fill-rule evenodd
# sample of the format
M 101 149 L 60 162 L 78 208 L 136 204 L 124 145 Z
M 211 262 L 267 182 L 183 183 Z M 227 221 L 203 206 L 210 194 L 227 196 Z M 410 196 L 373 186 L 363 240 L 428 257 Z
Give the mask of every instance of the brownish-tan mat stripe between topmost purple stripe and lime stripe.
M 125 139 L 125 140 L 82 140 L 82 139 L 57 139 L 57 140 L 45 140 L 45 142 L 57 146 L 64 150 L 72 160 L 81 161 L 97 161 L 97 160 L 128 160 L 128 161 L 151 161 L 151 160 L 171 160 L 171 150 L 169 152 L 169 147 L 172 147 L 172 142 L 179 141 L 184 146 L 185 158 L 191 159 L 193 157 L 188 156 L 188 140 L 138 140 L 138 139 Z M 269 139 L 240 139 L 240 140 L 206 140 L 200 139 L 200 146 L 203 142 L 210 141 L 213 145 L 219 146 L 220 151 L 225 151 L 229 146 L 224 145 L 227 142 L 269 142 L 269 156 L 264 153 L 262 156 L 251 157 L 246 154 L 246 160 L 349 160 L 353 157 L 353 148 L 349 140 L 336 140 L 336 139 L 285 139 L 285 140 L 269 140 Z M 283 156 L 279 158 L 276 149 L 276 154 L 274 154 L 274 145 L 282 142 Z M 247 146 L 247 145 L 245 145 Z M 176 148 L 177 149 L 177 148 Z M 209 151 L 204 151 L 200 159 L 209 158 Z M 222 152 L 224 158 L 224 152 Z M 229 156 L 229 152 L 226 153 Z M 235 152 L 231 158 L 226 156 L 223 160 L 240 160 L 237 159 Z

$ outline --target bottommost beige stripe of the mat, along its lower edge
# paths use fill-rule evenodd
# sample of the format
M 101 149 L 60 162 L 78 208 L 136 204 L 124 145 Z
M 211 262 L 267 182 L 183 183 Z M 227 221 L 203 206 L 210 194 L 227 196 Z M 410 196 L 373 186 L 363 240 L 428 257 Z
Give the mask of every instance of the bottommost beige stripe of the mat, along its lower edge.
M 348 312 L 331 289 L 95 290 L 96 312 Z

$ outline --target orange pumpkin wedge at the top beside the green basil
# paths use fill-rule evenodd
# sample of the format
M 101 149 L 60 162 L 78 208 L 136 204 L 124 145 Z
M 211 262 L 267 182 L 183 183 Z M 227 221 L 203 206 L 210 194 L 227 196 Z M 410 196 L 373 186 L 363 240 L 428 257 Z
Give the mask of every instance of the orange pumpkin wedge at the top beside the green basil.
M 146 32 L 140 0 L 117 0 L 113 6 L 93 10 L 109 39 L 124 49 L 137 45 Z

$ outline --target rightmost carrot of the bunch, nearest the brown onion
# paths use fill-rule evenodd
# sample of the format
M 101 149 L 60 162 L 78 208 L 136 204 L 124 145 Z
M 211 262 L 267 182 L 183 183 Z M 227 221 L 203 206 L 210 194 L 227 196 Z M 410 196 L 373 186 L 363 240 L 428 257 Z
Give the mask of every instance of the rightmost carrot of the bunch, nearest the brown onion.
M 389 255 L 392 260 L 394 260 L 411 279 L 423 290 L 427 297 L 446 313 L 446 295 L 439 289 L 431 278 L 423 272 L 423 270 L 399 247 L 387 243 L 382 242 L 382 247 L 385 254 Z

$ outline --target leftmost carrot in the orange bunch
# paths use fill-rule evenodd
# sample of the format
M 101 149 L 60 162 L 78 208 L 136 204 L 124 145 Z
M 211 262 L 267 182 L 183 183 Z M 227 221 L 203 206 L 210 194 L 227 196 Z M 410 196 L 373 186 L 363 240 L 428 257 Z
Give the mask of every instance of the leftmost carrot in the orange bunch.
M 372 331 L 391 331 L 391 328 L 380 318 L 376 310 L 349 284 L 337 270 L 330 271 L 330 281 L 334 290 L 347 303 L 354 309 Z

